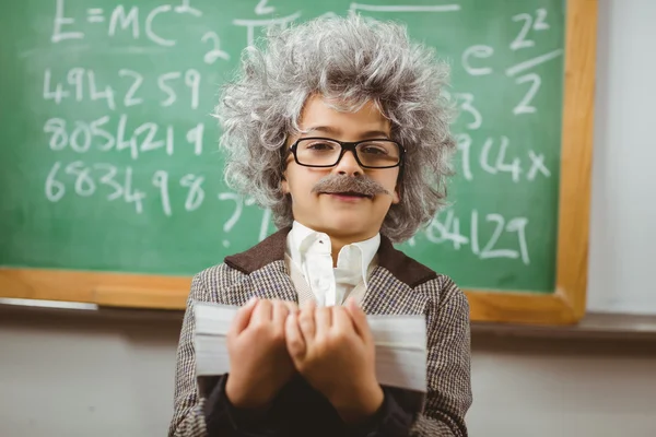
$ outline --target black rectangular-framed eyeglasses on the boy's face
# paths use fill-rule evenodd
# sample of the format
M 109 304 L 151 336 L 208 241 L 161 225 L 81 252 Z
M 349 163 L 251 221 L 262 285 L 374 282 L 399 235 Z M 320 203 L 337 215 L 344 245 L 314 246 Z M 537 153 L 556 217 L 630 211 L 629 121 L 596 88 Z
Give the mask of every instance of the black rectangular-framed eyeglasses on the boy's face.
M 403 162 L 406 150 L 393 140 L 345 142 L 329 138 L 302 138 L 290 152 L 296 164 L 305 167 L 333 167 L 347 151 L 353 152 L 362 168 L 394 168 Z

